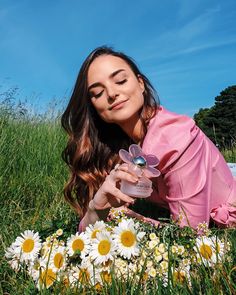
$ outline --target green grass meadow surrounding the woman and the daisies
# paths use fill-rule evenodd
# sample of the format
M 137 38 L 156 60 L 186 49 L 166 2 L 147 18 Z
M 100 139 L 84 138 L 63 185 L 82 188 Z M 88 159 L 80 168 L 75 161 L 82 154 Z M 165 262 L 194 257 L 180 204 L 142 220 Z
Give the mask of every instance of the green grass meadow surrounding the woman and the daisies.
M 10 102 L 0 108 L 0 293 L 1 294 L 236 294 L 236 229 L 216 229 L 216 235 L 230 243 L 230 257 L 214 269 L 201 265 L 191 279 L 168 281 L 161 286 L 156 280 L 147 288 L 139 282 L 120 283 L 113 278 L 101 290 L 83 288 L 38 291 L 25 273 L 12 270 L 4 252 L 26 229 L 38 231 L 43 238 L 63 229 L 65 236 L 76 232 L 78 217 L 64 201 L 63 186 L 68 169 L 61 159 L 66 135 L 60 116 L 31 116 Z M 227 161 L 235 161 L 235 150 L 225 151 Z M 168 233 L 168 239 L 187 239 L 189 232 Z M 163 229 L 164 230 L 164 229 Z M 214 229 L 213 229 L 214 230 Z M 136 284 L 136 285 L 135 285 Z M 158 285 L 159 284 L 159 285 Z

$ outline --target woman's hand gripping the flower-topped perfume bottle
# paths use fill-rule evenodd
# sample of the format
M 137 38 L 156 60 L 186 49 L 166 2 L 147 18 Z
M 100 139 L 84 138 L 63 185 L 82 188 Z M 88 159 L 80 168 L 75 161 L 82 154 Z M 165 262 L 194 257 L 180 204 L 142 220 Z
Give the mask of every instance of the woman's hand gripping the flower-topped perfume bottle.
M 121 180 L 136 183 L 138 178 L 128 172 L 127 164 L 116 165 L 110 174 L 107 175 L 93 200 L 90 201 L 90 209 L 92 207 L 95 210 L 105 210 L 111 207 L 116 208 L 122 205 L 129 206 L 133 204 L 135 200 L 120 191 L 119 183 Z

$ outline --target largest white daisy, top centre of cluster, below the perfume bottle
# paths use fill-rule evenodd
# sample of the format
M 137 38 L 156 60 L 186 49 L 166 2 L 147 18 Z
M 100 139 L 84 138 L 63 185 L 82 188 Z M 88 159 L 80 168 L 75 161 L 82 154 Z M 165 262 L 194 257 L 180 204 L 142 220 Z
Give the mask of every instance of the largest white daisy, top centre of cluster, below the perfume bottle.
M 137 226 L 132 219 L 123 219 L 113 231 L 116 249 L 118 253 L 130 259 L 131 256 L 138 256 L 140 252 L 139 241 L 144 237 L 145 232 L 137 232 Z

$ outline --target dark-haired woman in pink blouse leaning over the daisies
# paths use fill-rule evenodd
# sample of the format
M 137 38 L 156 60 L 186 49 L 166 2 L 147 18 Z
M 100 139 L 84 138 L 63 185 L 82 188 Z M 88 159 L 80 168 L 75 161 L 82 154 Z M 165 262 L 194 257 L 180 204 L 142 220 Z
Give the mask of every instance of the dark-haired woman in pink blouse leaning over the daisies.
M 106 219 L 111 207 L 134 203 L 119 189 L 121 180 L 138 181 L 119 165 L 119 150 L 132 143 L 160 160 L 150 202 L 168 208 L 181 226 L 209 224 L 210 218 L 219 226 L 235 225 L 236 181 L 220 152 L 191 118 L 156 102 L 149 80 L 123 53 L 100 47 L 87 57 L 62 126 L 69 134 L 63 158 L 71 171 L 65 198 L 83 217 L 80 231 Z

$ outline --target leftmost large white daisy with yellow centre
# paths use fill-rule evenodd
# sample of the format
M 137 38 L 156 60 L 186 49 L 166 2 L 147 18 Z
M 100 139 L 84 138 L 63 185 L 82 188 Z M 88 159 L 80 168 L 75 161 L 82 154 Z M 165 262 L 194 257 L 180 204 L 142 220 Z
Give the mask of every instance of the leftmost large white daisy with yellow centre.
M 34 261 L 41 249 L 41 240 L 38 233 L 26 230 L 13 243 L 13 250 L 20 261 Z

